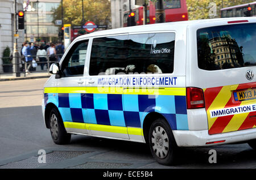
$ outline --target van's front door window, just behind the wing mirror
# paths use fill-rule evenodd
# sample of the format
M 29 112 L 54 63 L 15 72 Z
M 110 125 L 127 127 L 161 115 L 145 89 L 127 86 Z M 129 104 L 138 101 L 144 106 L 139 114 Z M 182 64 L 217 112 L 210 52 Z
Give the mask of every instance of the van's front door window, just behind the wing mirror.
M 67 57 L 65 57 L 61 70 L 63 76 L 82 76 L 84 75 L 84 64 L 87 52 L 88 40 L 77 42 L 69 50 Z

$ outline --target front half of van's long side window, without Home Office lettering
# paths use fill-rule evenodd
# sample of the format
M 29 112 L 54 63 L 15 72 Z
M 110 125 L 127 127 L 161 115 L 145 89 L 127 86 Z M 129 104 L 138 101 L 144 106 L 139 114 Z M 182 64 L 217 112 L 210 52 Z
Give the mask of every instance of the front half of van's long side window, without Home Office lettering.
M 89 75 L 110 75 L 122 72 L 127 59 L 128 36 L 94 38 L 90 55 Z

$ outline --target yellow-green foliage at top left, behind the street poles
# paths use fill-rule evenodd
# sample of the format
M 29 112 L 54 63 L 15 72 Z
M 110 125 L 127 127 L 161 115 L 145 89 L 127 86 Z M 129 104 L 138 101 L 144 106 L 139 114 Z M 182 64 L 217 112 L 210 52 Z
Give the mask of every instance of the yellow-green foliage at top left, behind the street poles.
M 53 22 L 61 19 L 61 4 L 53 12 Z M 82 1 L 63 0 L 63 24 L 82 25 Z M 109 0 L 84 0 L 84 21 L 108 24 L 111 17 Z

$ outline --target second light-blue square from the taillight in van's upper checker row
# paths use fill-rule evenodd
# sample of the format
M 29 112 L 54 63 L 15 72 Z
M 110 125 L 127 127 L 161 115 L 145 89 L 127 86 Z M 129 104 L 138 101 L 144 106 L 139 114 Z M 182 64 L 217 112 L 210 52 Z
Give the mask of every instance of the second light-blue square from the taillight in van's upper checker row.
M 123 95 L 123 110 L 127 112 L 139 112 L 138 95 Z

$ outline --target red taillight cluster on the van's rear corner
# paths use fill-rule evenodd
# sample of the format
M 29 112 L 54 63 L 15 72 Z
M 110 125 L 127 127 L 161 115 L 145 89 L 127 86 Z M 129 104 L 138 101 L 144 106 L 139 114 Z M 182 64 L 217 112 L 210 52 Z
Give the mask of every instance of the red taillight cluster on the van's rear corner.
M 187 87 L 187 109 L 204 108 L 204 91 L 200 88 Z

